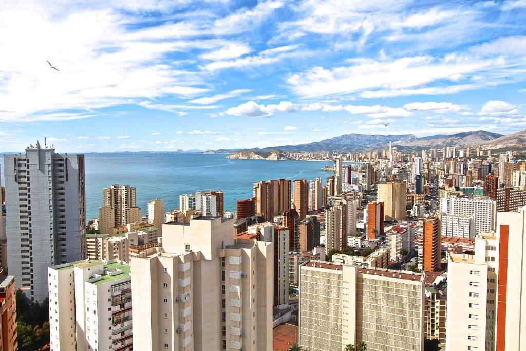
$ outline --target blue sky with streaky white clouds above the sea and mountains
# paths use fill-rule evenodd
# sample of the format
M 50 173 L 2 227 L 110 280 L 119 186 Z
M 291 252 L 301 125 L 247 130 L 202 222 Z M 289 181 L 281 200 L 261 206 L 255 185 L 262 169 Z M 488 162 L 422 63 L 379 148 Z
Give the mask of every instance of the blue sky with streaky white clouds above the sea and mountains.
M 4 2 L 0 151 L 510 134 L 524 23 L 526 0 Z

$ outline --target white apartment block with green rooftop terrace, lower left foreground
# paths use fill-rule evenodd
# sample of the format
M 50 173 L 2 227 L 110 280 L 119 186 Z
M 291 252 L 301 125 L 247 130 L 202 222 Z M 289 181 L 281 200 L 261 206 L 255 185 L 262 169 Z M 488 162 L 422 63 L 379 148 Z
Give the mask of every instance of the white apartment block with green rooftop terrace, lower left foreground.
M 87 259 L 52 266 L 48 272 L 51 351 L 131 350 L 127 263 Z

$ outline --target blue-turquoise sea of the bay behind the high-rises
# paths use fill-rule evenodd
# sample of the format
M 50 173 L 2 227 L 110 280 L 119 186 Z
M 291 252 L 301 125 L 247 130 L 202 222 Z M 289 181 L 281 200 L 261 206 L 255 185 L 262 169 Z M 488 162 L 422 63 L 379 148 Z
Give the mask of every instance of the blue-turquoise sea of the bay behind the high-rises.
M 234 212 L 236 201 L 252 196 L 252 184 L 268 179 L 325 178 L 331 172 L 321 171 L 333 163 L 317 161 L 266 161 L 226 159 L 225 154 L 177 153 L 87 153 L 86 220 L 98 216 L 102 189 L 112 184 L 136 188 L 136 201 L 146 214 L 146 204 L 164 200 L 165 211 L 179 208 L 179 195 L 197 190 L 222 190 L 225 210 Z M 3 157 L 0 157 L 2 185 Z M 352 164 L 351 162 L 346 164 Z

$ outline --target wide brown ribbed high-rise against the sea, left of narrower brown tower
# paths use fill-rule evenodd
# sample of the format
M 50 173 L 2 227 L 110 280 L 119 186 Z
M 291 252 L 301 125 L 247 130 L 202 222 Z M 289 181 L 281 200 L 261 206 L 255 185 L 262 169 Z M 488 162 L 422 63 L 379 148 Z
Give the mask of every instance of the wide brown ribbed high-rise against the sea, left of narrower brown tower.
M 256 215 L 268 222 L 290 208 L 291 182 L 288 179 L 266 180 L 254 184 Z

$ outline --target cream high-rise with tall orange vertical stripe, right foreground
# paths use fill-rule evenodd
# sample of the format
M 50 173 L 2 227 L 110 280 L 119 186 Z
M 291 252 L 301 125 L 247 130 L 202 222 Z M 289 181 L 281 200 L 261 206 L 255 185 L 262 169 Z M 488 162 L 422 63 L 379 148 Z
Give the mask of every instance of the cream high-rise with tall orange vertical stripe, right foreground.
M 479 235 L 474 255 L 448 262 L 448 350 L 521 350 L 526 207 L 498 212 L 497 232 Z

